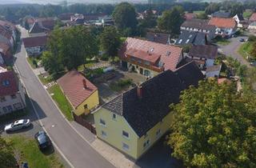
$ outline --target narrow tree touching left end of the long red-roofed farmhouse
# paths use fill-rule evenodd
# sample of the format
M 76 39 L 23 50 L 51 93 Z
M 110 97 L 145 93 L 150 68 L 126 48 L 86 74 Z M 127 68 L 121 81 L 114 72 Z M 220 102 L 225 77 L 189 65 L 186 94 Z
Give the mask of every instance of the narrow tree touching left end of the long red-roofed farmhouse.
M 120 35 L 114 26 L 107 26 L 100 36 L 102 50 L 113 60 L 121 45 Z

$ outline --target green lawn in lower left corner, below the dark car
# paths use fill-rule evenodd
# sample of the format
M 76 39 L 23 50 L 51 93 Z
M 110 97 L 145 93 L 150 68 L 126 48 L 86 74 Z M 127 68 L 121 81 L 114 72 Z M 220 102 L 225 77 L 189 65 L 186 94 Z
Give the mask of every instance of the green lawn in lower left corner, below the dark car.
M 11 136 L 6 138 L 11 142 L 15 153 L 20 156 L 20 162 L 28 162 L 30 167 L 36 168 L 60 168 L 64 167 L 61 162 L 58 161 L 58 156 L 54 153 L 46 151 L 43 154 L 33 138 L 25 138 L 22 136 Z

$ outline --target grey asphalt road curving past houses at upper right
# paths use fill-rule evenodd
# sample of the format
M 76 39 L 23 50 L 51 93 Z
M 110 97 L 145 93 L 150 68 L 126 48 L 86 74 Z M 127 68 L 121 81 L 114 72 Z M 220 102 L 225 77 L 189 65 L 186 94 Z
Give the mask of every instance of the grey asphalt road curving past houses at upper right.
M 239 62 L 241 62 L 243 65 L 250 66 L 250 63 L 246 61 L 242 57 L 242 55 L 238 54 L 238 49 L 242 45 L 242 42 L 239 42 L 240 38 L 248 39 L 246 36 L 239 36 L 237 38 L 230 38 L 230 44 L 226 46 L 219 46 L 219 48 L 222 50 L 223 54 L 226 54 L 227 56 L 230 56 L 234 59 L 237 59 Z

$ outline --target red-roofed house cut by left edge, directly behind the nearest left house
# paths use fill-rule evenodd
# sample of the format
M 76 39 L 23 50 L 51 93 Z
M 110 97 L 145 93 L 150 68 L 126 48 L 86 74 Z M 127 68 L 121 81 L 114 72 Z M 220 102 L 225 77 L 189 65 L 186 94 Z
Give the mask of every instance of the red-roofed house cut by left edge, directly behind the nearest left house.
M 13 62 L 13 54 L 9 45 L 4 42 L 0 42 L 0 64 L 10 65 Z

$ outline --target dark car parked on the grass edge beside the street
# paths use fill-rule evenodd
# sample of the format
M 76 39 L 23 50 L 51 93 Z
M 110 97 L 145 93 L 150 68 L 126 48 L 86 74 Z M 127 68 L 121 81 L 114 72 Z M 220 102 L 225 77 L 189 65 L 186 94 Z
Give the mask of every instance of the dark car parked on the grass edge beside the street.
M 43 130 L 40 130 L 37 134 L 35 134 L 34 138 L 38 142 L 38 147 L 40 150 L 46 149 L 48 146 L 51 146 L 50 138 Z

